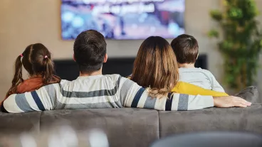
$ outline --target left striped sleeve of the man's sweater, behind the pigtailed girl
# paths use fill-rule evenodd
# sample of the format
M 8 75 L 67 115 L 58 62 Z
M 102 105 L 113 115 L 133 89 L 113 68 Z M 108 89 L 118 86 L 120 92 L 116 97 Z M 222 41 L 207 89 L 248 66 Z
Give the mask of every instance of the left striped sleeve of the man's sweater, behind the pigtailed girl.
M 58 86 L 58 84 L 53 85 Z M 49 86 L 41 87 L 33 92 L 11 94 L 4 101 L 1 109 L 11 113 L 51 110 L 54 106 L 46 87 Z

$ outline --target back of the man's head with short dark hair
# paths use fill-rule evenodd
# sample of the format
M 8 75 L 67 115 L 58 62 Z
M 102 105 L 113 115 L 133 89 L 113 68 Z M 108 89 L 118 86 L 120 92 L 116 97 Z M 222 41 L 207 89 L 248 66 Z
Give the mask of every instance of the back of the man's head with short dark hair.
M 104 36 L 95 30 L 83 31 L 73 45 L 75 62 L 81 73 L 100 70 L 106 54 Z

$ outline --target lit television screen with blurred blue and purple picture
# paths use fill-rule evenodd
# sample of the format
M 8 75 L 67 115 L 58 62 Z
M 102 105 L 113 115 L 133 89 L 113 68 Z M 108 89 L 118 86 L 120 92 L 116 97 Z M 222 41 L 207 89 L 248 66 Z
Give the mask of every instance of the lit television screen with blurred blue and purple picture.
M 61 0 L 63 40 L 94 29 L 110 39 L 184 33 L 184 0 Z

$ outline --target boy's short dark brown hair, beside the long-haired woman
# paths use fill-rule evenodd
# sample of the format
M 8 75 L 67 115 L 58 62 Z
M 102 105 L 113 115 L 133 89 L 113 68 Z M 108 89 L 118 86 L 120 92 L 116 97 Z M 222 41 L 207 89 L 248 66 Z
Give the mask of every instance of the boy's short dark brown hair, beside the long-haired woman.
M 174 54 L 177 57 L 177 62 L 180 64 L 196 62 L 199 54 L 199 45 L 193 36 L 182 34 L 174 38 L 171 42 Z

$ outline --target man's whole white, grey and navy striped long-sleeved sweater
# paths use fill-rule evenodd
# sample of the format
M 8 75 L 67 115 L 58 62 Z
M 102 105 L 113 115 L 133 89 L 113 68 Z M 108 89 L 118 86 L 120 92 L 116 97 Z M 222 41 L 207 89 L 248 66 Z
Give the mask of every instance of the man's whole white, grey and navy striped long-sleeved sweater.
M 162 99 L 148 96 L 147 89 L 120 75 L 78 77 L 74 81 L 46 85 L 33 92 L 12 94 L 2 105 L 4 111 L 44 111 L 134 107 L 157 110 L 194 110 L 214 107 L 213 97 L 168 94 Z

